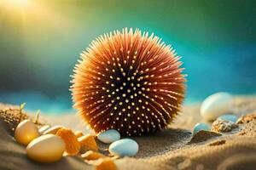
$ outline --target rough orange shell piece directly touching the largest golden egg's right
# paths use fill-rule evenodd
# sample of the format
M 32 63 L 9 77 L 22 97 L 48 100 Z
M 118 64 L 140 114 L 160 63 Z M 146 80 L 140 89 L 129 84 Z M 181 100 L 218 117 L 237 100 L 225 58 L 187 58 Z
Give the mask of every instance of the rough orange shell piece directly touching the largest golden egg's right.
M 61 139 L 64 140 L 66 144 L 67 155 L 74 156 L 79 153 L 80 144 L 76 135 L 73 133 L 71 129 L 62 127 L 60 130 L 58 130 L 56 135 L 60 136 Z

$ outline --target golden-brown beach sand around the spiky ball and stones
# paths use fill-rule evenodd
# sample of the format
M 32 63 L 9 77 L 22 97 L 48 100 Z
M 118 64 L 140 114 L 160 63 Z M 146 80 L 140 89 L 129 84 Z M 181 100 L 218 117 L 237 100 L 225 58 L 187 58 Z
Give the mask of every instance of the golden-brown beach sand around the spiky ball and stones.
M 133 138 L 139 144 L 139 152 L 135 157 L 115 160 L 119 169 L 255 169 L 256 121 L 241 124 L 221 136 L 189 143 L 192 138 L 191 129 L 197 122 L 202 122 L 200 105 L 183 106 L 177 119 L 160 133 Z M 0 105 L 0 109 L 1 106 L 3 105 Z M 256 96 L 235 97 L 233 110 L 237 116 L 256 111 Z M 75 113 L 65 116 L 43 115 L 42 120 L 52 125 L 59 124 L 90 133 Z M 30 161 L 26 158 L 25 148 L 12 139 L 3 124 L 0 127 L 0 169 L 93 168 L 79 156 L 64 157 L 61 161 L 48 165 Z M 100 144 L 100 147 L 105 149 L 108 145 Z

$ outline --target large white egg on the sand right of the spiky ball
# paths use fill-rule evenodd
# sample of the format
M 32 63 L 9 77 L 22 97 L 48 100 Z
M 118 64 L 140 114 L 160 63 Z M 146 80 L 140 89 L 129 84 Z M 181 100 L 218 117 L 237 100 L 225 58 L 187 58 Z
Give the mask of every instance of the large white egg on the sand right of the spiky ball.
M 228 93 L 212 94 L 201 105 L 201 116 L 207 121 L 213 121 L 218 116 L 231 112 L 232 96 Z

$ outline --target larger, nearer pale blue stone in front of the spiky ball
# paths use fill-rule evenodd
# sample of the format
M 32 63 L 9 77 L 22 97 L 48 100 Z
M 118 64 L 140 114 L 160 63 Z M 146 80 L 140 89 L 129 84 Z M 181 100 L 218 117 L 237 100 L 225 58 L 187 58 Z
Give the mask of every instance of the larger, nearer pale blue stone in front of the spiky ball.
M 110 144 L 108 150 L 114 156 L 136 156 L 138 144 L 133 139 L 120 139 Z

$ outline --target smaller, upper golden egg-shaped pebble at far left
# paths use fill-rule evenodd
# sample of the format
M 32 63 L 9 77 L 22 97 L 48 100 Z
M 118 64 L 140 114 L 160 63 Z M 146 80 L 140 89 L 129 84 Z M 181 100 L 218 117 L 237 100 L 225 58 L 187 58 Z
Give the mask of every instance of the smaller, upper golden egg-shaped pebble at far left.
M 20 144 L 27 145 L 38 136 L 40 136 L 38 127 L 30 120 L 20 122 L 15 128 L 15 139 Z

